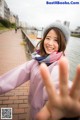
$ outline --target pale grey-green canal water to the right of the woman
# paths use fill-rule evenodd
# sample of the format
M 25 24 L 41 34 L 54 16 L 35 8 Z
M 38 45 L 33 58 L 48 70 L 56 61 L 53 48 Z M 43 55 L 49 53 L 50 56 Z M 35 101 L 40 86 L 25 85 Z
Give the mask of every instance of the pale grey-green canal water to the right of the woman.
M 70 37 L 66 48 L 66 55 L 70 64 L 70 80 L 75 76 L 76 67 L 80 64 L 80 38 Z

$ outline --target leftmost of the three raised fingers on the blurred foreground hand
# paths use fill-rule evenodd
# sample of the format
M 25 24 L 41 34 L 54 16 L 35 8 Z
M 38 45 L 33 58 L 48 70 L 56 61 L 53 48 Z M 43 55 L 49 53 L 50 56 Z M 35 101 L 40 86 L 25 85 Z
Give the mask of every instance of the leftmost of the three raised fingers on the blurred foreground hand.
M 46 64 L 42 63 L 40 65 L 40 72 L 41 72 L 41 75 L 42 75 L 44 84 L 46 86 L 50 100 L 52 100 L 52 99 L 55 100 L 57 94 L 56 94 L 54 84 L 51 81 L 51 76 L 50 76 L 50 73 L 49 73 L 49 70 L 48 70 L 48 67 L 46 66 Z M 54 79 L 54 78 L 52 78 L 52 79 Z

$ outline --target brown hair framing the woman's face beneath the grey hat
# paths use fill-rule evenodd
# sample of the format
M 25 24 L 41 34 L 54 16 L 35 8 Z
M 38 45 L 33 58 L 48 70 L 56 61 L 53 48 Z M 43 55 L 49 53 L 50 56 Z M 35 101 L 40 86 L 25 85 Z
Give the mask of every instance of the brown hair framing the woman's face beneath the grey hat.
M 66 44 L 67 44 L 67 40 L 65 39 L 64 34 L 62 33 L 62 31 L 60 29 L 58 29 L 56 27 L 50 27 L 44 32 L 43 39 L 40 41 L 40 43 L 38 43 L 38 44 L 40 44 L 40 55 L 41 56 L 46 56 L 47 55 L 46 52 L 45 52 L 45 49 L 44 49 L 44 40 L 45 40 L 45 38 L 46 38 L 46 36 L 47 36 L 47 34 L 49 33 L 50 30 L 54 30 L 56 32 L 57 37 L 58 37 L 58 45 L 59 45 L 58 52 L 62 51 L 63 54 L 64 54 L 64 51 L 66 49 Z

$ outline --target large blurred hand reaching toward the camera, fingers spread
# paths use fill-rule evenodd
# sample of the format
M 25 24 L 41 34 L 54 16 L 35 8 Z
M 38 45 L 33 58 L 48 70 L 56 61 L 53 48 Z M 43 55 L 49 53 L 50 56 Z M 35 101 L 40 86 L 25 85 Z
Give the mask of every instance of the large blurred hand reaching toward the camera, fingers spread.
M 55 86 L 51 81 L 50 73 L 47 66 L 42 63 L 40 65 L 41 75 L 46 86 L 49 100 L 45 106 L 36 115 L 37 120 L 59 120 L 63 117 L 80 116 L 80 65 L 76 69 L 76 75 L 73 85 L 69 91 L 68 88 L 68 61 L 61 58 L 59 61 L 59 94 L 56 92 Z M 51 119 L 50 119 L 51 120 Z

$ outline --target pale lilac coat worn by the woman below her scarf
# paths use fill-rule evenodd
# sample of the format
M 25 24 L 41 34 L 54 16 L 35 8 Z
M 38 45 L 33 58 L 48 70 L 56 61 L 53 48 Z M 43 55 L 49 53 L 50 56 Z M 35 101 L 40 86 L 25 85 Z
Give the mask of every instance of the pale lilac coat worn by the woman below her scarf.
M 54 84 L 57 89 L 59 84 L 58 61 L 48 66 L 48 69 L 52 78 L 54 78 L 52 80 L 54 80 Z M 35 120 L 36 113 L 39 112 L 46 100 L 48 100 L 48 96 L 39 71 L 39 63 L 36 60 L 32 59 L 31 61 L 26 62 L 0 76 L 0 94 L 8 92 L 28 80 L 30 80 L 30 119 Z

